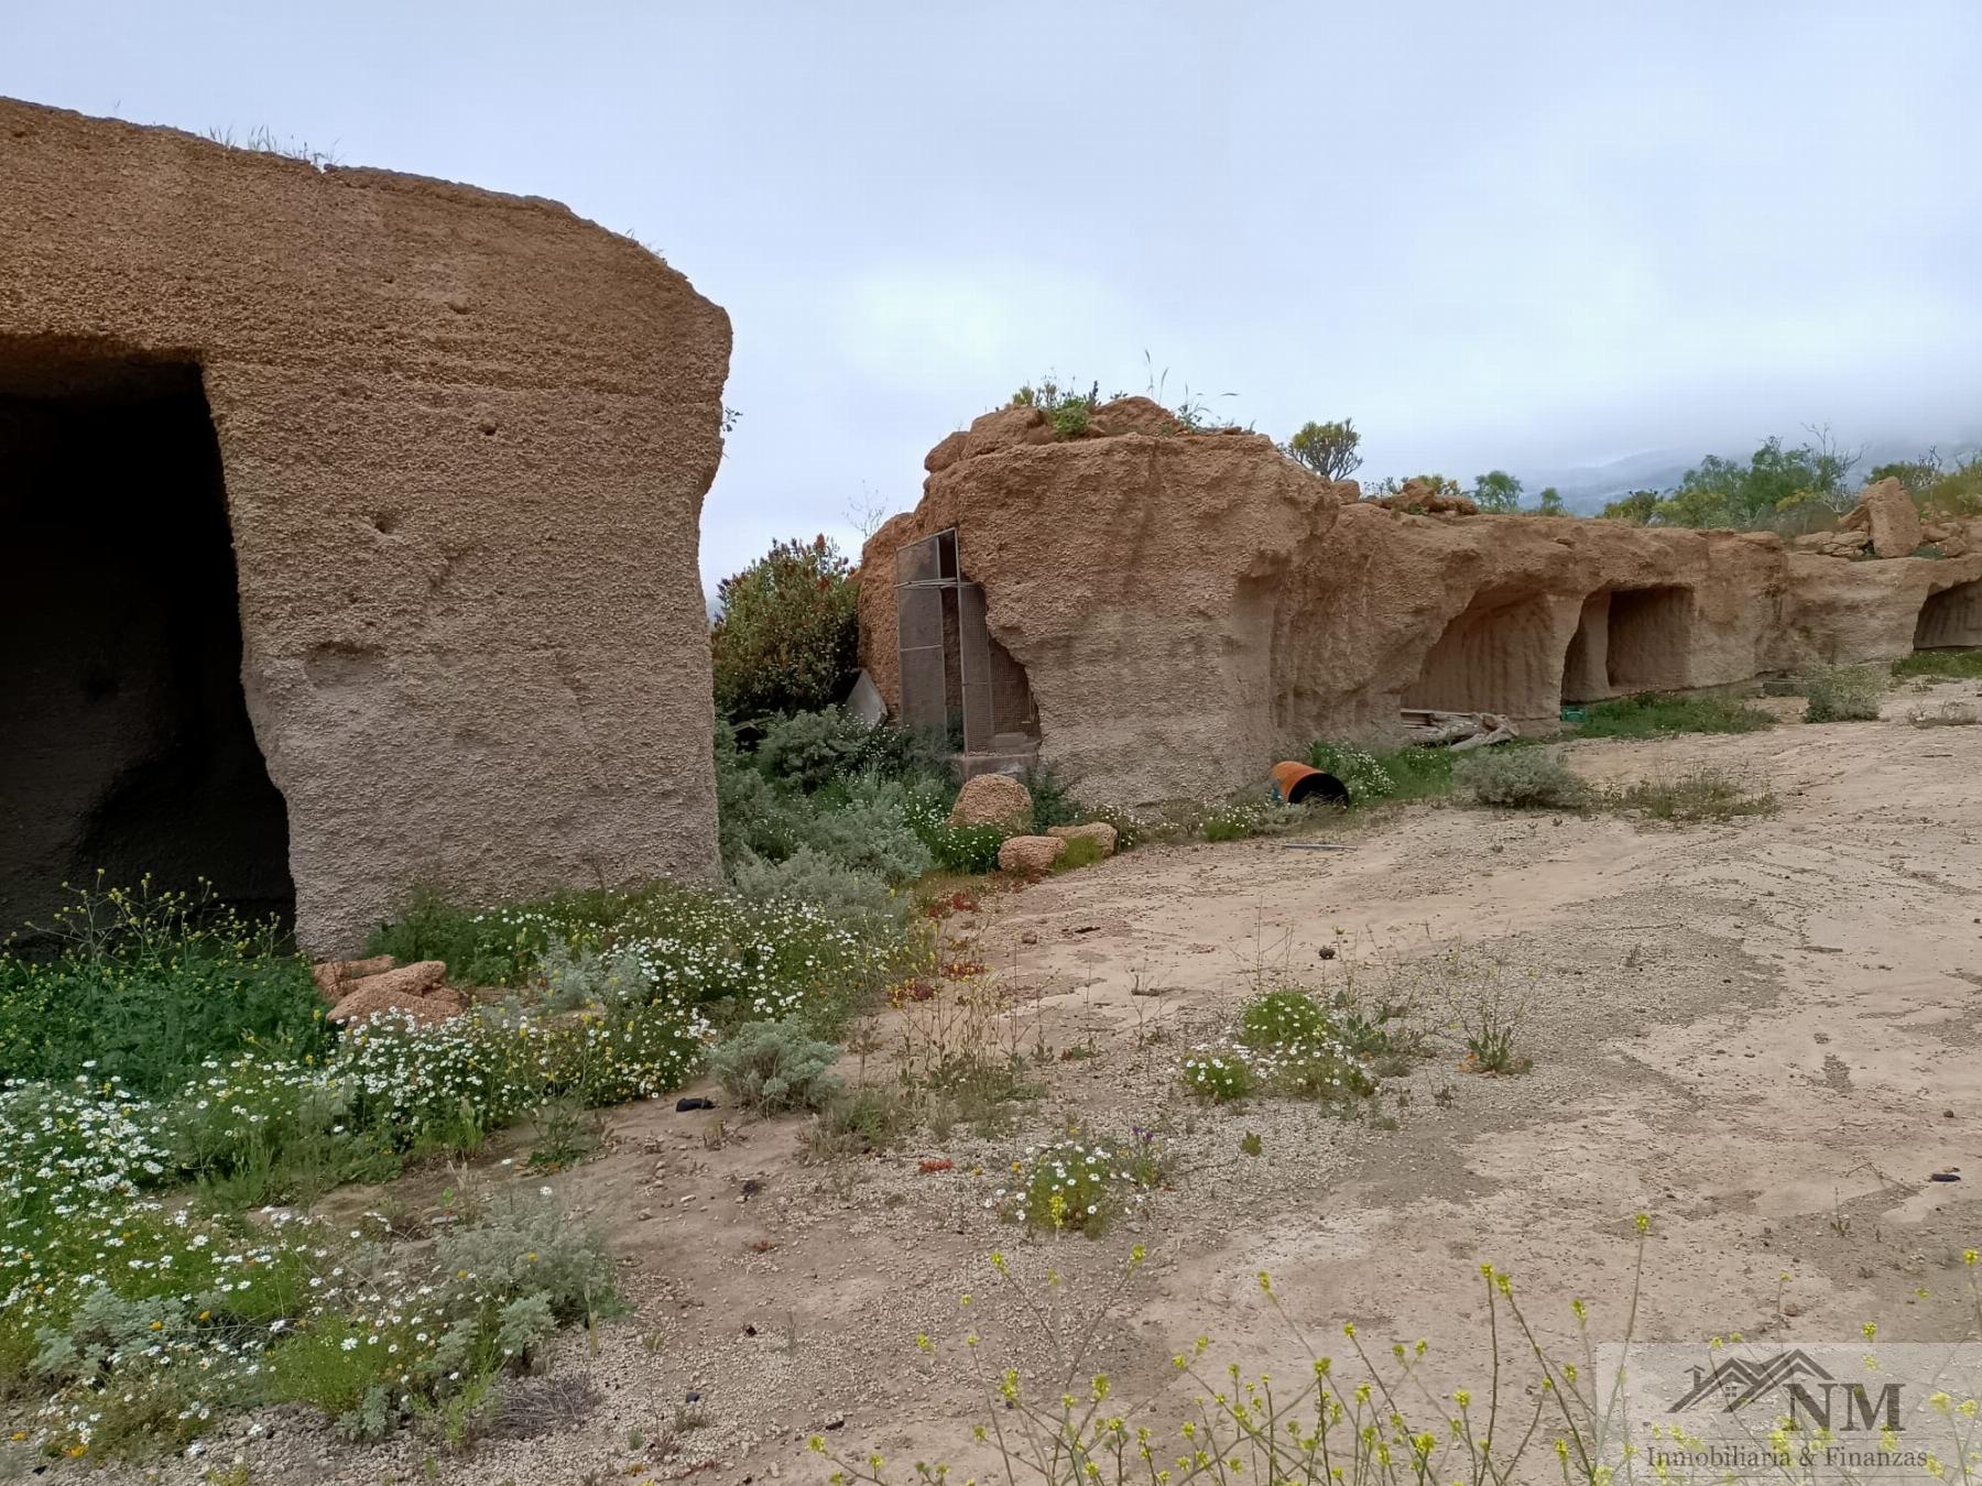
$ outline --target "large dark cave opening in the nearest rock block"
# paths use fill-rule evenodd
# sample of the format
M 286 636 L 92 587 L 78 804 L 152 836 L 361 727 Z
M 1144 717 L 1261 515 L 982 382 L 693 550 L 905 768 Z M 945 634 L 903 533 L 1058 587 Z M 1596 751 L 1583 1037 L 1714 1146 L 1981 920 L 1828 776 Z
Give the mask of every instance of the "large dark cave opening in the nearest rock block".
M 0 341 L 0 900 L 63 882 L 293 913 L 242 691 L 220 448 L 192 365 Z

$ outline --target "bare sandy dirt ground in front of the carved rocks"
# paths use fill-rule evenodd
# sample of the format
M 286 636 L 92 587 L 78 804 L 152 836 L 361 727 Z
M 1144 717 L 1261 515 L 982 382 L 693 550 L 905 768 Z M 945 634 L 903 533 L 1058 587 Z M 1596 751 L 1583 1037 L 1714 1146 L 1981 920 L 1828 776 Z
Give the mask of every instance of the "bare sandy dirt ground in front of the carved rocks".
M 823 1480 L 805 1448 L 823 1433 L 900 1476 L 945 1458 L 961 1480 L 987 1464 L 973 1363 L 1052 1391 L 1054 1369 L 1106 1371 L 1124 1401 L 1201 1333 L 1219 1365 L 1304 1367 L 1261 1270 L 1324 1351 L 1344 1322 L 1376 1349 L 1427 1339 L 1435 1387 L 1488 1367 L 1483 1260 L 1512 1272 L 1550 1343 L 1574 1337 L 1576 1296 L 1592 1335 L 1617 1337 L 1637 1213 L 1653 1222 L 1641 1337 L 1843 1341 L 1873 1318 L 1887 1339 L 1962 1337 L 1960 1250 L 1982 1240 L 1982 727 L 1905 715 L 1974 690 L 1895 693 L 1879 723 L 1564 745 L 1596 781 L 1738 771 L 1776 791 L 1774 816 L 1401 806 L 987 898 L 945 933 L 1015 997 L 1013 1044 L 1045 1050 L 1013 1131 L 807 1163 L 797 1117 L 618 1110 L 605 1155 L 553 1187 L 608 1230 L 636 1312 L 567 1337 L 496 1438 L 468 1456 L 357 1448 L 277 1411 L 208 1462 L 240 1454 L 281 1482 L 714 1486 Z M 1526 1001 L 1530 1072 L 1463 1068 L 1437 989 L 1455 945 Z M 1261 973 L 1407 979 L 1429 1056 L 1354 1119 L 1207 1108 L 1179 1058 Z M 848 1078 L 888 1078 L 902 1030 L 868 1028 Z M 1157 1131 L 1171 1157 L 1167 1187 L 1100 1240 L 1027 1236 L 991 1207 L 1011 1159 L 1068 1125 Z M 517 1149 L 492 1151 L 486 1181 L 511 1179 Z M 456 1179 L 412 1177 L 396 1201 Z M 1134 1244 L 1148 1260 L 1122 1278 Z M 1185 1401 L 1157 1395 L 1142 1419 L 1163 1429 Z

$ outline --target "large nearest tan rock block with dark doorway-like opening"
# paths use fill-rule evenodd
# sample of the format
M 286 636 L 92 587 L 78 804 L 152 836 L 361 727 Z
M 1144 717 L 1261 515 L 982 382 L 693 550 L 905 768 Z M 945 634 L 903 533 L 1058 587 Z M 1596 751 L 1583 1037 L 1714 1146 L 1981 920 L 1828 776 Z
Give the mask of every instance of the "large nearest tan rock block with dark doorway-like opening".
M 317 951 L 414 882 L 488 902 L 716 872 L 696 535 L 729 323 L 688 279 L 555 202 L 12 101 L 0 264 L 0 521 L 46 579 L 0 610 L 10 907 L 180 850 L 174 800 L 248 800 L 250 775 L 252 830 L 204 810 L 218 834 L 172 866 L 226 878 L 252 842 L 244 880 L 293 880 Z M 163 400 L 186 438 L 147 448 L 170 458 L 83 470 Z M 178 586 L 212 602 L 180 622 L 170 584 L 119 596 L 107 575 L 170 569 L 145 549 L 200 501 Z M 135 648 L 65 640 L 91 604 L 123 604 Z M 159 680 L 180 672 L 212 705 Z M 222 733 L 240 779 L 202 743 Z

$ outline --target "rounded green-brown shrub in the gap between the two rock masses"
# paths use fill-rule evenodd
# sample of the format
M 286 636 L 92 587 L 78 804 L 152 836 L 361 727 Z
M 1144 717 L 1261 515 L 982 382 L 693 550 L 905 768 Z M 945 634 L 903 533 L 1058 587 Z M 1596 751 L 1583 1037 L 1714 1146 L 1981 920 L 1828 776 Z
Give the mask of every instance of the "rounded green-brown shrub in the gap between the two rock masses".
M 725 717 L 817 711 L 860 664 L 856 579 L 826 537 L 775 543 L 716 600 L 710 660 Z

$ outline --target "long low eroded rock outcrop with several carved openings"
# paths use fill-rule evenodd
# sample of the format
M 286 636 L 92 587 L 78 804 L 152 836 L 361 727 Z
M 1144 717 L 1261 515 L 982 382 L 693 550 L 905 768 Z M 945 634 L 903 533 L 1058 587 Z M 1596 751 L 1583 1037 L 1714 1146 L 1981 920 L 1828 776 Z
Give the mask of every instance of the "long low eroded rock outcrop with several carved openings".
M 1982 644 L 1982 555 L 1847 563 L 1772 533 L 1409 511 L 1253 434 L 1142 410 L 1116 434 L 1108 412 L 1072 440 L 1033 408 L 951 434 L 860 583 L 862 662 L 892 705 L 894 553 L 953 527 L 1041 757 L 1088 800 L 1219 795 L 1318 737 L 1401 741 L 1407 707 L 1536 731 L 1564 701 Z M 1817 551 L 1877 541 L 1825 535 Z

